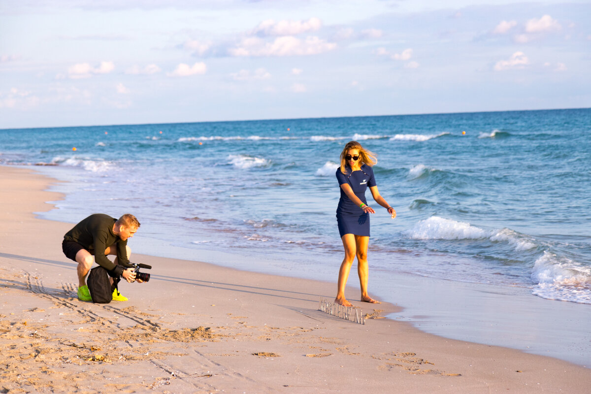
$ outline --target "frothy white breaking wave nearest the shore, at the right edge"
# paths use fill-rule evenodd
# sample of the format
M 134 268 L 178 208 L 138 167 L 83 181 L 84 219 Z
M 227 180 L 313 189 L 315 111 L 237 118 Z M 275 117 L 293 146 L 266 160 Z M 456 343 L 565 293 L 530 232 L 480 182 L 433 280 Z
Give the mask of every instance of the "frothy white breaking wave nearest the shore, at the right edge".
M 534 263 L 532 294 L 547 299 L 591 304 L 591 268 L 544 251 Z

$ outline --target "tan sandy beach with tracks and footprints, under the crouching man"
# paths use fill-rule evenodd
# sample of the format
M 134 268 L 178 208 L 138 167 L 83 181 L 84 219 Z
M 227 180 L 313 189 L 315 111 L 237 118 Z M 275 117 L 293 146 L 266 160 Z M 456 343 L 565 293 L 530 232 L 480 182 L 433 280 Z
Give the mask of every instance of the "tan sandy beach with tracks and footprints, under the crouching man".
M 0 392 L 588 393 L 591 387 L 591 369 L 582 366 L 383 318 L 399 307 L 355 301 L 355 288 L 347 295 L 367 317 L 364 325 L 319 310 L 322 299 L 334 298 L 334 283 L 141 255 L 133 239 L 131 261 L 152 265 L 150 282 L 122 283 L 126 302 L 80 301 L 76 264 L 61 252 L 72 224 L 34 214 L 60 198 L 45 191 L 55 181 L 15 167 L 0 167 L 0 181 Z

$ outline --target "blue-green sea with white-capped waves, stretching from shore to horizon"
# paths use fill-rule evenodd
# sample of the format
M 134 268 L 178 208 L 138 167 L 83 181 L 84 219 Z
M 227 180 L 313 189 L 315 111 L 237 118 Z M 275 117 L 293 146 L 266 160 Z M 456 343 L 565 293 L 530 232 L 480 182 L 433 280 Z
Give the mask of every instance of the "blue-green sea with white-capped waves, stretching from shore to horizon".
M 3 129 L 0 164 L 69 181 L 46 219 L 135 214 L 139 253 L 336 281 L 356 140 L 398 213 L 367 193 L 382 299 L 403 273 L 591 304 L 590 136 L 591 109 Z

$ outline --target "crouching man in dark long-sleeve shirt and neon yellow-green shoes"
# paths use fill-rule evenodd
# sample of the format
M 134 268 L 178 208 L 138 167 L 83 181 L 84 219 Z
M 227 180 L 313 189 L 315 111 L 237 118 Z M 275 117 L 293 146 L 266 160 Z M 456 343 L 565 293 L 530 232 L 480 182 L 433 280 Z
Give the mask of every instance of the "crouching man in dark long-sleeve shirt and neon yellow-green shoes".
M 138 228 L 138 219 L 132 214 L 126 213 L 119 219 L 115 219 L 102 213 L 95 213 L 76 224 L 64 235 L 61 249 L 67 258 L 78 263 L 79 299 L 92 301 L 86 285 L 86 275 L 94 261 L 107 271 L 113 271 L 116 276 L 122 275 L 129 283 L 135 281 L 134 268 L 128 268 L 132 265 L 129 263 L 131 249 L 127 246 L 127 239 L 133 237 Z M 107 255 L 115 255 L 115 261 L 111 262 Z M 138 279 L 138 283 L 141 282 Z M 127 298 L 117 289 L 113 290 L 113 299 L 127 301 Z

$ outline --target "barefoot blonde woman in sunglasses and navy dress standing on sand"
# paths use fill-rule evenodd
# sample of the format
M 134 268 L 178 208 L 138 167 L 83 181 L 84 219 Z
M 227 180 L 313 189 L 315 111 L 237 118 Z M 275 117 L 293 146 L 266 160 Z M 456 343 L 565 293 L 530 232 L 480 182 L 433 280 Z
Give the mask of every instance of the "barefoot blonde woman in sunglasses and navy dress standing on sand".
M 339 225 L 340 238 L 345 247 L 345 258 L 340 265 L 335 302 L 346 307 L 352 306 L 345 299 L 345 285 L 355 256 L 357 256 L 357 272 L 359 282 L 361 282 L 361 301 L 379 304 L 379 301 L 369 297 L 368 294 L 369 214 L 375 213 L 375 211 L 367 205 L 365 200 L 367 188 L 369 187 L 376 203 L 388 210 L 392 219 L 396 217 L 396 211 L 379 194 L 374 170 L 372 170 L 372 166 L 376 162 L 375 154 L 363 149 L 359 142 L 350 141 L 340 153 L 340 167 L 336 170 L 336 178 L 340 185 L 336 220 Z

